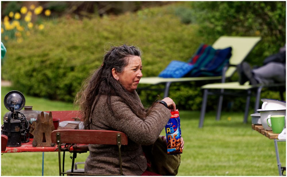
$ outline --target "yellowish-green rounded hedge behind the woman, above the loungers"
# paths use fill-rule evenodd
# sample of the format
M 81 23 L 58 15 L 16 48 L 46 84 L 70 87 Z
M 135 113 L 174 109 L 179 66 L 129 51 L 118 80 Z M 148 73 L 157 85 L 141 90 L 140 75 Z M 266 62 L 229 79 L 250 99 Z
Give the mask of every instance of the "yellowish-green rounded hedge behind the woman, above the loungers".
M 26 94 L 73 101 L 110 45 L 140 47 L 143 74 L 154 76 L 171 60 L 186 61 L 194 53 L 202 42 L 195 31 L 196 25 L 181 23 L 164 8 L 83 20 L 63 17 L 47 21 L 22 43 L 7 43 L 2 76 Z

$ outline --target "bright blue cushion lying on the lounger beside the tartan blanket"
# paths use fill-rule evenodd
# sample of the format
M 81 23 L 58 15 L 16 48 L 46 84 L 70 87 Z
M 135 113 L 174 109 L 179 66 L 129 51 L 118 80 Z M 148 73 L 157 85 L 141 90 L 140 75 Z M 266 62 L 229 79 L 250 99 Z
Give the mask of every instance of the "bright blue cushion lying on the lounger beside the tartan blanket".
M 185 74 L 187 74 L 191 69 L 193 68 L 193 65 L 189 63 L 185 63 L 183 61 L 171 61 L 169 65 L 158 75 L 158 77 L 173 77 L 173 78 L 179 78 L 183 77 Z

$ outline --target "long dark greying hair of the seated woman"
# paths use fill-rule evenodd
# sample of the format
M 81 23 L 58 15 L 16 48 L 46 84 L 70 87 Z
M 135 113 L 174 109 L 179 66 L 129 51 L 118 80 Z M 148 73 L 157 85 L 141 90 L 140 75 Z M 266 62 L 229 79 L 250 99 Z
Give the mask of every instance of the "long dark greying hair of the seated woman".
M 148 110 L 136 103 L 131 93 L 119 81 L 114 79 L 112 74 L 113 68 L 119 73 L 123 72 L 131 56 L 141 57 L 141 50 L 135 46 L 128 45 L 112 47 L 104 55 L 102 66 L 84 81 L 81 90 L 76 95 L 75 105 L 79 105 L 85 129 L 90 129 L 90 115 L 101 95 L 107 96 L 108 108 L 113 116 L 115 116 L 115 113 L 111 107 L 111 96 L 114 95 L 123 98 L 123 101 L 137 116 L 144 117 L 148 114 Z

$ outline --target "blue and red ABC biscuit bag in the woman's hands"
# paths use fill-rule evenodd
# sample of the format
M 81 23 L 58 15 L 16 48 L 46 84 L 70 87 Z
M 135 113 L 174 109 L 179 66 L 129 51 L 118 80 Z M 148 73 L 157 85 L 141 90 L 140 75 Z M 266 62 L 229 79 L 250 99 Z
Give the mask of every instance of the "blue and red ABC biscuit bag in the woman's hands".
M 171 117 L 165 126 L 167 154 L 182 154 L 179 111 L 176 110 L 170 113 Z

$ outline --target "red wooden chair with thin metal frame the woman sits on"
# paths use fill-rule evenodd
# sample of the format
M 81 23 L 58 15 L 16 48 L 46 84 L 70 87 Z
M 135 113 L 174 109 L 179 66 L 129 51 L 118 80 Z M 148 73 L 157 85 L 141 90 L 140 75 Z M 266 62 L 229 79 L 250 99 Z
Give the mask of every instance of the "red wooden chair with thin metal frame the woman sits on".
M 117 145 L 119 148 L 119 166 L 120 172 L 119 174 L 111 174 L 115 175 L 123 175 L 122 169 L 122 160 L 121 160 L 121 145 L 127 145 L 127 135 L 123 132 L 118 131 L 110 131 L 110 130 L 54 130 L 51 134 L 52 143 L 57 143 L 58 147 L 62 143 L 69 144 L 110 144 Z M 61 170 L 61 148 L 58 148 L 58 156 L 59 156 L 59 176 L 62 174 L 70 174 L 70 175 L 83 175 L 82 173 L 74 173 L 74 159 L 76 157 L 75 151 L 73 152 L 73 160 L 72 160 L 72 169 L 71 173 L 64 172 L 64 169 Z M 79 151 L 78 151 L 79 152 Z M 64 166 L 64 158 L 63 155 L 63 166 Z M 85 175 L 103 175 L 103 174 L 85 174 Z

